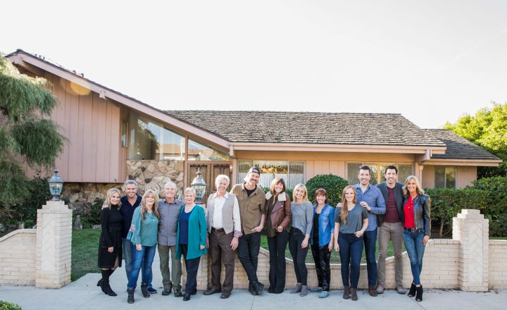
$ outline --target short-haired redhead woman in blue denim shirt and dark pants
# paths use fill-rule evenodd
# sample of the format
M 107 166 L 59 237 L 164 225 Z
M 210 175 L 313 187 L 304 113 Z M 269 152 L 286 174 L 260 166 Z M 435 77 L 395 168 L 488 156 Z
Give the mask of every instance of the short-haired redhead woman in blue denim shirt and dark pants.
M 320 292 L 319 298 L 329 296 L 331 271 L 330 259 L 333 248 L 334 208 L 327 204 L 327 191 L 315 191 L 313 206 L 313 228 L 310 236 L 313 261 L 317 272 L 318 286 L 310 292 Z

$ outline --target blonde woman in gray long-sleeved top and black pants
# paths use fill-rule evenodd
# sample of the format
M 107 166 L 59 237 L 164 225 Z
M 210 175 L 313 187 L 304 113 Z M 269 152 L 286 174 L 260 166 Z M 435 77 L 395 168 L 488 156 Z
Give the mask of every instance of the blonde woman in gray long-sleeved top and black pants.
M 313 225 L 313 205 L 308 201 L 308 190 L 302 184 L 294 187 L 291 212 L 292 229 L 289 237 L 289 250 L 294 261 L 297 280 L 296 287 L 291 290 L 291 294 L 299 293 L 299 296 L 303 297 L 308 294 L 306 254 Z

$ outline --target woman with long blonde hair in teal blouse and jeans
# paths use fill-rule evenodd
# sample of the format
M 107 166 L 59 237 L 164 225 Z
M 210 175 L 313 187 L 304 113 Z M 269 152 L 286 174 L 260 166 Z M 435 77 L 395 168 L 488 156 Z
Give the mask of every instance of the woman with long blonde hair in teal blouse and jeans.
M 151 264 L 154 261 L 158 236 L 158 194 L 154 190 L 146 190 L 141 204 L 134 210 L 132 224 L 127 239 L 132 242 L 132 273 L 127 285 L 127 302 L 134 302 L 134 290 L 142 267 L 141 291 L 144 297 L 150 297 L 148 285 L 153 279 Z

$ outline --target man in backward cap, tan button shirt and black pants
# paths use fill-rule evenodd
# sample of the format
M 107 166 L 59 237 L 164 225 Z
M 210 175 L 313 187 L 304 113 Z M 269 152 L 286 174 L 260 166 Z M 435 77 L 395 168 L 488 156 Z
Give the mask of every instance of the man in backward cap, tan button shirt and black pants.
M 238 259 L 249 278 L 249 292 L 260 295 L 264 285 L 258 282 L 257 263 L 261 248 L 261 231 L 265 223 L 265 193 L 257 186 L 261 171 L 250 168 L 244 182 L 232 187 L 239 203 L 239 218 L 242 224 L 242 236 L 239 237 Z

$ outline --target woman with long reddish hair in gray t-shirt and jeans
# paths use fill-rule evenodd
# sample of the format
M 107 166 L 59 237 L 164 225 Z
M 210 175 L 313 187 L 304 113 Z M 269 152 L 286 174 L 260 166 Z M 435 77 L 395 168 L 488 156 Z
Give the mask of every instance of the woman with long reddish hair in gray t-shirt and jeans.
M 356 190 L 346 186 L 342 193 L 342 207 L 334 213 L 334 249 L 339 252 L 342 262 L 344 299 L 358 299 L 363 233 L 367 227 L 368 211 L 358 204 Z

